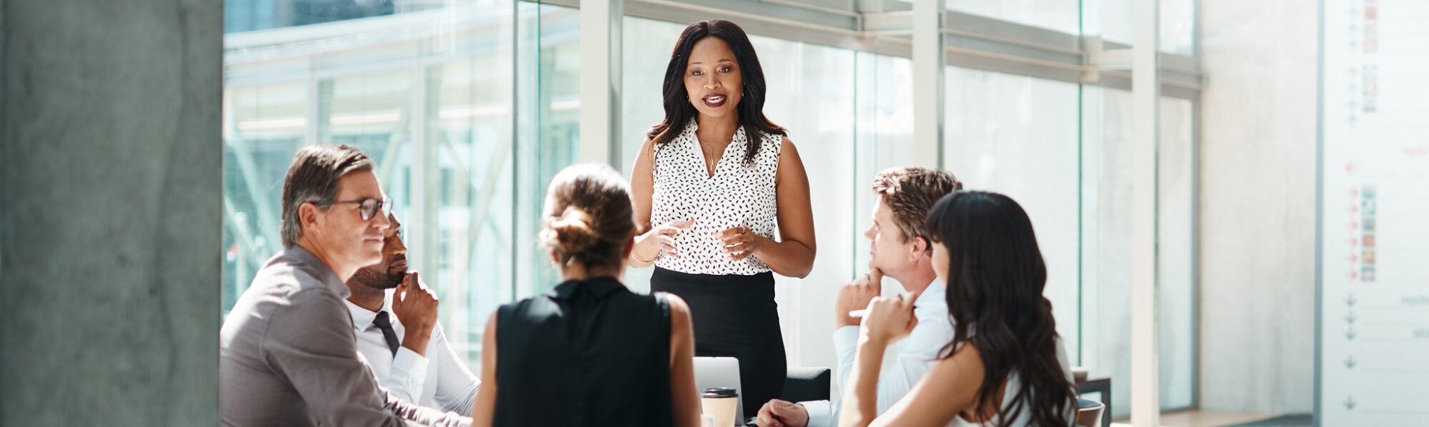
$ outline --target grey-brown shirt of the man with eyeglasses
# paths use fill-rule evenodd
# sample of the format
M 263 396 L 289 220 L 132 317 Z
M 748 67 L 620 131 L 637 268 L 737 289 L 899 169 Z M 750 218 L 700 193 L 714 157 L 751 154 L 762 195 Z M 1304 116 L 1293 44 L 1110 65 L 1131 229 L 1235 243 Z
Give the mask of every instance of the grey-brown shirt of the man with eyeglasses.
M 219 330 L 219 424 L 472 426 L 377 383 L 343 323 L 350 294 L 302 246 L 269 258 Z

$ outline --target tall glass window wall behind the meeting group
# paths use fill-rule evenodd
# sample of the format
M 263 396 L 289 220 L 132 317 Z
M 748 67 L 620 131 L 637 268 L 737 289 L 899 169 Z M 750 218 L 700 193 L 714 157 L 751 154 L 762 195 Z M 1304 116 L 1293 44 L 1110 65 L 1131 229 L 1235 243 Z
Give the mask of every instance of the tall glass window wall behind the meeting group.
M 1157 147 L 1160 396 L 1163 408 L 1183 408 L 1196 404 L 1200 76 L 1193 3 L 1160 1 L 1163 63 L 1182 64 L 1163 73 L 1175 81 L 1163 90 Z M 769 81 L 765 111 L 790 130 L 815 200 L 815 271 L 777 280 L 786 348 L 797 366 L 833 366 L 833 296 L 869 261 L 862 237 L 873 203 L 869 180 L 915 160 L 912 99 L 923 89 L 913 86 L 907 31 L 875 29 L 879 13 L 907 4 L 887 0 L 879 10 L 855 11 L 845 3 L 869 1 L 629 0 L 622 20 L 622 137 L 613 166 L 627 174 L 646 129 L 663 119 L 660 83 L 684 24 L 720 17 L 749 30 Z M 224 313 L 282 248 L 279 194 L 293 153 L 304 144 L 352 144 L 377 161 L 410 264 L 439 293 L 442 326 L 474 367 L 487 314 L 559 281 L 534 236 L 546 184 L 579 157 L 579 1 L 359 4 L 367 3 L 226 1 Z M 1049 268 L 1057 331 L 1076 364 L 1119 386 L 1112 416 L 1123 417 L 1130 86 L 1126 73 L 1085 70 L 1090 47 L 1130 39 L 1130 1 L 946 6 L 960 27 L 945 27 L 953 41 L 939 161 L 969 189 L 1006 193 L 1027 210 Z M 1019 37 L 1026 39 L 1002 43 Z M 1037 47 L 1039 40 L 1072 41 Z M 1049 60 L 1066 64 L 1049 67 Z M 644 291 L 649 274 L 632 268 L 626 281 Z

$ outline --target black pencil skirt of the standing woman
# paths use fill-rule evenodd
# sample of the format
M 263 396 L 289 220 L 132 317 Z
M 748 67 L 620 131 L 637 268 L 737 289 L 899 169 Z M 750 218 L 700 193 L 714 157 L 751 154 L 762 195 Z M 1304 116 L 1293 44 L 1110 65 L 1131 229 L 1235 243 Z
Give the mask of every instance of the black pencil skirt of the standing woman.
M 745 417 L 785 391 L 787 360 L 775 303 L 775 276 L 689 274 L 656 267 L 650 290 L 690 306 L 694 356 L 739 358 Z

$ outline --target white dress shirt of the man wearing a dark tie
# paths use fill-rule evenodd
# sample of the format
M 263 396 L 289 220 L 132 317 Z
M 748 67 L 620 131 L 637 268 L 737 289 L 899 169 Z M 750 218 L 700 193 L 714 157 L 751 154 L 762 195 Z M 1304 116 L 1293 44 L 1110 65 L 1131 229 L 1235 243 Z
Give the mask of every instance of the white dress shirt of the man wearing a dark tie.
M 382 337 L 382 328 L 372 324 L 377 313 L 347 303 L 347 311 L 353 317 L 353 330 L 357 334 L 357 353 L 362 353 L 372 366 L 373 374 L 382 386 L 402 400 L 424 407 L 434 407 L 443 411 L 453 411 L 472 416 L 472 403 L 476 400 L 476 388 L 480 380 L 472 374 L 456 351 L 446 340 L 442 324 L 432 328 L 432 340 L 427 341 L 427 357 L 422 357 L 407 347 L 397 347 L 393 356 L 387 348 L 387 341 Z M 392 313 L 392 291 L 382 301 L 382 310 L 387 311 L 392 328 L 397 333 L 397 341 L 403 338 L 402 321 Z M 422 393 L 422 394 L 416 394 Z

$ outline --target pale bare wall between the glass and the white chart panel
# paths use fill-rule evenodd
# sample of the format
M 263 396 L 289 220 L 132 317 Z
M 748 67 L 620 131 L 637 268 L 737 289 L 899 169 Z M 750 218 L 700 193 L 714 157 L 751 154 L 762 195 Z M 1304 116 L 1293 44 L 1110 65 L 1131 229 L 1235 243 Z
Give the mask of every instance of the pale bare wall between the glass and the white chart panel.
M 1318 1 L 1198 6 L 1200 407 L 1309 413 Z

